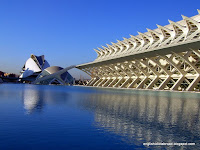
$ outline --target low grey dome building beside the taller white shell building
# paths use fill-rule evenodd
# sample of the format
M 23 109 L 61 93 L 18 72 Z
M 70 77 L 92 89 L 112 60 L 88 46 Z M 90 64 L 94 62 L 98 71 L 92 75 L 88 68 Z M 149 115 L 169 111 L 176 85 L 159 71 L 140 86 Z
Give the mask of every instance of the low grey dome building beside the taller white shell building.
M 66 71 L 65 71 L 66 70 Z M 74 78 L 67 72 L 67 68 L 63 69 L 59 66 L 51 66 L 44 69 L 36 78 L 36 84 L 61 84 L 72 85 Z

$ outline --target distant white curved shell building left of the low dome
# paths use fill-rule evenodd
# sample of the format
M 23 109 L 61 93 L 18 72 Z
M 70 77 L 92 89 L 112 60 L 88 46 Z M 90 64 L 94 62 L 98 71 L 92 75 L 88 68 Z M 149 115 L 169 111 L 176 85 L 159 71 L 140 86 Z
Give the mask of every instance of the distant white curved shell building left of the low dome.
M 36 56 L 31 54 L 31 57 L 26 61 L 24 67 L 22 68 L 20 78 L 35 78 L 41 73 L 44 69 L 50 67 L 47 60 L 44 59 L 44 55 Z

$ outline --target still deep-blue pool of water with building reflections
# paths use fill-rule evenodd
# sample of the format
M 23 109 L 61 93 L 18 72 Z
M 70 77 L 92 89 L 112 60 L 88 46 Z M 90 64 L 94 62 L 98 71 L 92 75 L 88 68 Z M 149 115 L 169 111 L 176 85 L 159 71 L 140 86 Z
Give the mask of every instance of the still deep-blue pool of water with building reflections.
M 200 94 L 1 84 L 7 149 L 200 149 Z

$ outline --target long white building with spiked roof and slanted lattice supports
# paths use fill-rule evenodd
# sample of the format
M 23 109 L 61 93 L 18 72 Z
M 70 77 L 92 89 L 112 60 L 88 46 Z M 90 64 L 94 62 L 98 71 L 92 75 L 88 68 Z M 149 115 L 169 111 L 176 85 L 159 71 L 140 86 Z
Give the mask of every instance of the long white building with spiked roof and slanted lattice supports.
M 77 68 L 92 77 L 88 86 L 198 91 L 200 10 L 198 13 L 95 49 L 97 59 Z

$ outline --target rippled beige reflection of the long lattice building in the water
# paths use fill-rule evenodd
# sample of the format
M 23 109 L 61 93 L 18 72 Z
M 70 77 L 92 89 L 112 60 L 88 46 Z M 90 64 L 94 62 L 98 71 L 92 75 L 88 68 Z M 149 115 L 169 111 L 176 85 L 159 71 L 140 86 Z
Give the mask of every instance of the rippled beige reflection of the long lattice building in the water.
M 194 96 L 198 95 L 149 91 L 96 94 L 87 97 L 89 102 L 86 100 L 84 106 L 95 111 L 98 127 L 133 144 L 195 141 L 198 144 L 200 100 Z

